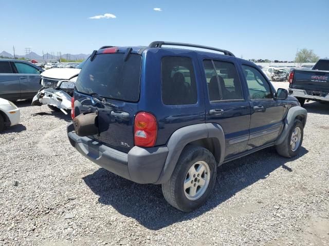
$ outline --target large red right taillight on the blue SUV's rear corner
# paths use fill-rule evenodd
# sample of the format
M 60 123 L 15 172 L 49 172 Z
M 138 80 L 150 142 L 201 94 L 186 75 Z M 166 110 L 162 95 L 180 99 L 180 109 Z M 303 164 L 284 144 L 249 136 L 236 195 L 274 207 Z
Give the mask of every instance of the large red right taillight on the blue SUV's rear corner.
M 153 147 L 156 142 L 158 127 L 153 114 L 141 112 L 135 116 L 134 141 L 139 147 Z

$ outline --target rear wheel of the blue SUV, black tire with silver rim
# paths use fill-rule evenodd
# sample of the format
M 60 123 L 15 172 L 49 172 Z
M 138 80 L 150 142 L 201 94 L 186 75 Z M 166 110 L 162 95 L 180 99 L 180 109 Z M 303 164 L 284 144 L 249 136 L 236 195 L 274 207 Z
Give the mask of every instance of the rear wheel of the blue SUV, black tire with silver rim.
M 199 174 L 195 172 L 195 176 L 191 178 L 190 173 L 200 167 L 204 171 Z M 161 186 L 163 196 L 174 208 L 184 212 L 193 211 L 201 207 L 211 194 L 216 181 L 216 170 L 216 160 L 210 151 L 202 147 L 187 146 L 182 151 L 171 178 Z M 190 186 L 187 189 L 184 189 L 185 182 Z M 201 186 L 201 182 L 205 185 Z M 194 196 L 193 191 L 196 192 Z

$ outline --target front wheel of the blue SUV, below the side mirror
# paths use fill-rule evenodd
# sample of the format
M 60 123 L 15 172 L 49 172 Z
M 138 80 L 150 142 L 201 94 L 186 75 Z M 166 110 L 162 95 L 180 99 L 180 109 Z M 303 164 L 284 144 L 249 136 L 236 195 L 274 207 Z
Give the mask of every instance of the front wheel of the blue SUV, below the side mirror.
M 299 130 L 297 128 L 299 128 Z M 295 138 L 295 146 L 294 146 L 294 145 L 291 145 L 291 141 L 293 141 L 291 139 L 291 136 L 296 133 L 295 130 L 297 132 L 300 131 L 298 133 L 300 135 L 299 135 L 299 137 L 297 136 Z M 290 131 L 289 131 L 288 135 L 286 136 L 286 138 L 283 140 L 283 142 L 280 145 L 276 146 L 276 149 L 277 149 L 277 152 L 279 153 L 279 155 L 284 156 L 284 157 L 288 157 L 288 158 L 296 156 L 299 153 L 299 150 L 302 146 L 303 136 L 304 136 L 303 124 L 299 119 L 295 119 L 294 125 L 290 129 Z M 299 139 L 299 140 L 296 140 L 296 139 Z

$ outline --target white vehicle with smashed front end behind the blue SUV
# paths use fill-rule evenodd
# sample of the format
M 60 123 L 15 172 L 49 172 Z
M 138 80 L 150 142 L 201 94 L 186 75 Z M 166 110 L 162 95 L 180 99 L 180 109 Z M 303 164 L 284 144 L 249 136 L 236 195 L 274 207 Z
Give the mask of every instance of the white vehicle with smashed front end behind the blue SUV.
M 83 67 L 83 61 L 77 68 L 53 68 L 41 73 L 42 88 L 32 99 L 32 106 L 48 105 L 53 111 L 67 114 L 71 109 L 71 98 L 77 77 Z

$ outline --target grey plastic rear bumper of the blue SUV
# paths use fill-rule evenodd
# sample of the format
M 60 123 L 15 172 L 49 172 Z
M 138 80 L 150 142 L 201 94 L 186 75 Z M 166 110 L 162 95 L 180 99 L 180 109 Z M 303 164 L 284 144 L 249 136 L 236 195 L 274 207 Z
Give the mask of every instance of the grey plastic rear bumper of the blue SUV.
M 89 137 L 80 137 L 74 132 L 72 122 L 67 125 L 67 136 L 70 144 L 83 156 L 102 168 L 136 183 L 156 183 L 165 165 L 168 148 L 133 147 L 124 153 Z

